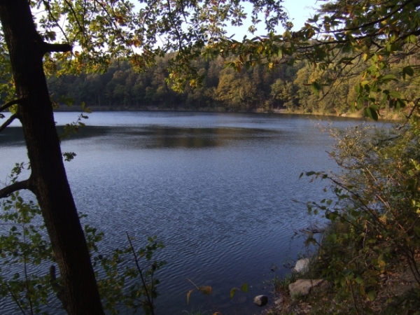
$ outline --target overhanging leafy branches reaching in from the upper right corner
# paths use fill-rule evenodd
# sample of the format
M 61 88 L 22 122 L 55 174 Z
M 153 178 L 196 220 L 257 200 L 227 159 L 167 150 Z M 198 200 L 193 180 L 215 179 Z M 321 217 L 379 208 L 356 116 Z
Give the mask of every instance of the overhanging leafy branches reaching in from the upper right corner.
M 400 109 L 416 99 L 410 91 L 388 86 L 418 74 L 419 7 L 418 0 L 332 1 L 321 5 L 299 31 L 221 41 L 209 46 L 207 53 L 238 55 L 229 65 L 239 71 L 255 64 L 272 69 L 306 60 L 313 66 L 306 84 L 319 97 L 343 78 L 358 76 L 354 107 L 377 120 L 384 106 Z

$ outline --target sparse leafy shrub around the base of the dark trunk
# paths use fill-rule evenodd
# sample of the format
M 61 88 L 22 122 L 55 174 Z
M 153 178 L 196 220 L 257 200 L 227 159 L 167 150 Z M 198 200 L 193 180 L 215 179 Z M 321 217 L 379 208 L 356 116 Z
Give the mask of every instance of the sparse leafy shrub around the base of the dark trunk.
M 10 176 L 12 183 L 24 167 L 16 165 Z M 62 308 L 61 279 L 55 278 L 55 255 L 41 209 L 25 199 L 15 192 L 1 204 L 0 297 L 9 300 L 9 304 L 14 303 L 22 314 L 49 314 L 52 309 Z M 80 215 L 80 218 L 85 216 Z M 162 242 L 148 237 L 148 244 L 134 251 L 129 238 L 130 246 L 103 255 L 97 244 L 104 233 L 90 225 L 84 225 L 84 232 L 105 309 L 110 314 L 118 314 L 121 305 L 125 305 L 134 312 L 143 307 L 146 314 L 154 314 L 159 284 L 155 272 L 165 261 L 153 260 L 153 255 L 164 247 Z

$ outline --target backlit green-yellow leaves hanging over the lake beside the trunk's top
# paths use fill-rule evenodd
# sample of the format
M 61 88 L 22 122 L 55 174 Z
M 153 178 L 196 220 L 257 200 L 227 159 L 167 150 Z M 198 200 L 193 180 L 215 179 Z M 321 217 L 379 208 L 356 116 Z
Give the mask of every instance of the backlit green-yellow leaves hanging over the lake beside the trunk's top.
M 241 1 L 31 1 L 38 31 L 45 43 L 64 41 L 73 51 L 45 57 L 45 71 L 64 73 L 104 72 L 111 60 L 128 58 L 137 71 L 155 64 L 155 57 L 177 52 L 170 63 L 170 81 L 181 89 L 187 80 L 197 82 L 191 60 L 205 45 L 227 38 L 228 25 L 244 21 L 254 25 L 264 16 L 267 31 L 286 25 L 282 0 L 252 0 L 246 13 Z M 52 50 L 50 50 L 52 51 Z M 55 50 L 57 51 L 57 50 Z

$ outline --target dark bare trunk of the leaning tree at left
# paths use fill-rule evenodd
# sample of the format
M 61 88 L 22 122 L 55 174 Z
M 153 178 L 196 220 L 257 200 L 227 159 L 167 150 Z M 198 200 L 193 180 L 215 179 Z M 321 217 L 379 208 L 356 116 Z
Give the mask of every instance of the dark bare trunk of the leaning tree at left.
M 43 42 L 36 32 L 29 2 L 0 0 L 1 25 L 20 99 L 17 116 L 22 123 L 31 163 L 29 189 L 38 199 L 57 258 L 66 311 L 69 314 L 104 314 L 67 181 L 43 72 L 45 52 L 65 50 L 58 48 L 60 45 L 53 47 Z M 66 50 L 71 49 L 66 46 Z

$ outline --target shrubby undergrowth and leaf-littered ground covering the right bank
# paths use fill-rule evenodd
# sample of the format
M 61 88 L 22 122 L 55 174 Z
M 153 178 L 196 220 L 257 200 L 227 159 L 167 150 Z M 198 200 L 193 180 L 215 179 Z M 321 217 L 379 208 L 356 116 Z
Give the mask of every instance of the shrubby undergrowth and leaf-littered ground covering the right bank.
M 332 131 L 337 142 L 330 156 L 341 172 L 305 174 L 327 182 L 324 191 L 332 196 L 307 204 L 310 214 L 328 222 L 323 239 L 307 231 L 307 244 L 318 246 L 309 271 L 276 281 L 276 290 L 287 295 L 298 278 L 321 278 L 330 286 L 288 300 L 278 314 L 420 314 L 418 120 L 400 130 L 362 125 Z M 399 278 L 403 272 L 409 281 Z M 390 281 L 405 281 L 412 290 L 401 286 L 391 296 L 385 292 Z M 298 304 L 304 313 L 293 308 Z

